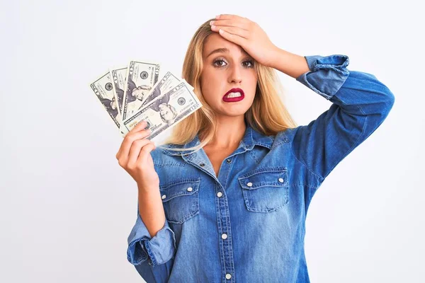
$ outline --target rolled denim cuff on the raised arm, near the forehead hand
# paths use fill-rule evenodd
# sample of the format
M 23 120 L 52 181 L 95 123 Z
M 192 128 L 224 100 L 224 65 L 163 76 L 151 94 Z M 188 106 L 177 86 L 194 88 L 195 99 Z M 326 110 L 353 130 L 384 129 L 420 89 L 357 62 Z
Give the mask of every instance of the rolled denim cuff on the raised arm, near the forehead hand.
M 350 71 L 346 69 L 349 58 L 346 55 L 305 56 L 310 71 L 297 77 L 303 85 L 319 93 L 327 100 L 341 88 Z

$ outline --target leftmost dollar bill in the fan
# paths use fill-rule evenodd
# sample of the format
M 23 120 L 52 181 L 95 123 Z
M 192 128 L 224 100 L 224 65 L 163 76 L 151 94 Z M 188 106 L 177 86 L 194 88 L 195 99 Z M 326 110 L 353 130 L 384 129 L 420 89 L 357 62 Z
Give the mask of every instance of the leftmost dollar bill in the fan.
M 102 103 L 103 107 L 112 118 L 115 125 L 120 129 L 121 117 L 118 112 L 118 103 L 113 92 L 113 83 L 111 80 L 111 74 L 108 71 L 106 74 L 101 76 L 99 79 L 90 84 L 91 89 L 96 94 L 98 100 Z M 124 134 L 124 132 L 121 132 Z

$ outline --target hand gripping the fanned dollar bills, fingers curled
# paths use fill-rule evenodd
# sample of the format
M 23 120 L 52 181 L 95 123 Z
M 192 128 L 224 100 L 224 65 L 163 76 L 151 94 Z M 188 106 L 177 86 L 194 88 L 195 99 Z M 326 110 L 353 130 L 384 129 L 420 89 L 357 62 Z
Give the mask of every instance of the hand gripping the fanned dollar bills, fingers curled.
M 128 132 L 116 154 L 118 164 L 135 179 L 138 187 L 149 188 L 159 186 L 159 176 L 154 168 L 150 152 L 156 148 L 153 141 L 146 139 L 150 129 L 147 123 L 139 122 Z

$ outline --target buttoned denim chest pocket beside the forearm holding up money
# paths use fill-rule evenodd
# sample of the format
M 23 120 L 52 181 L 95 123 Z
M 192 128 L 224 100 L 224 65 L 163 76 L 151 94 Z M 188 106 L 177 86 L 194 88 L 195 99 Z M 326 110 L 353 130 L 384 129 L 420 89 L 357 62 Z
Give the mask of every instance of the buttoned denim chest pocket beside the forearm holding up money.
M 199 214 L 200 178 L 174 180 L 159 186 L 166 219 L 181 224 Z

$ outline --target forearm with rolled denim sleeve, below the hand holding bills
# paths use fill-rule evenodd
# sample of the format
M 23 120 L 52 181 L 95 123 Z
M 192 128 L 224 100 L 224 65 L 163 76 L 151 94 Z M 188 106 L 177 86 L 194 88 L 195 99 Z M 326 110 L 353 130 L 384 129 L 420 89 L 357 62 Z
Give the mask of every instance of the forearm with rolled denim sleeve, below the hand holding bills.
M 176 238 L 165 218 L 159 190 L 139 188 L 137 220 L 128 236 L 128 261 L 146 282 L 166 282 L 175 253 Z

